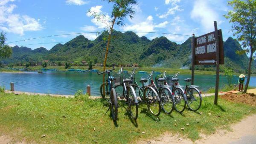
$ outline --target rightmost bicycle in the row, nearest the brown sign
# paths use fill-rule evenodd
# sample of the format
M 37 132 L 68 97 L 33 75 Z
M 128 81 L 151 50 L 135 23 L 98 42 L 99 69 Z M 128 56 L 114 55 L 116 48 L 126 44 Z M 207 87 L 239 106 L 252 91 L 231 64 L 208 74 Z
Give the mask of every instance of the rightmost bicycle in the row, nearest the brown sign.
M 174 78 L 177 78 L 177 75 L 179 75 L 179 72 L 174 75 Z M 186 82 L 186 86 L 185 90 L 183 90 L 183 93 L 184 95 L 186 95 L 186 104 L 190 110 L 197 111 L 198 109 L 200 109 L 202 104 L 203 98 L 201 92 L 196 88 L 198 86 L 188 85 L 188 83 L 191 81 L 191 78 L 186 78 L 184 79 L 184 81 Z M 175 84 L 180 86 L 178 82 L 176 82 Z

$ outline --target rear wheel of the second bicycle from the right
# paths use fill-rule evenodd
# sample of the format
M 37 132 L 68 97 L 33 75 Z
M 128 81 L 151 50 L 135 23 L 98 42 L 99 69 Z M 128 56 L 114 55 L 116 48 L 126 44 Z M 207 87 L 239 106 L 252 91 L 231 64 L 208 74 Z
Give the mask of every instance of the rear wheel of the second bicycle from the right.
M 177 112 L 183 112 L 186 107 L 186 101 L 184 99 L 183 90 L 179 87 L 174 89 L 174 102 L 175 102 L 175 109 Z

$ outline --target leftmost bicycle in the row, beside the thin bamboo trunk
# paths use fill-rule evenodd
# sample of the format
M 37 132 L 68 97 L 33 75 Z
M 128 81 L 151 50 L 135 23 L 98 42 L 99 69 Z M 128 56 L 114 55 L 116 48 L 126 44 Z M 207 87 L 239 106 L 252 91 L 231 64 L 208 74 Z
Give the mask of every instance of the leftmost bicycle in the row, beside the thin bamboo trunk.
M 117 102 L 116 90 L 115 90 L 115 88 L 113 88 L 113 83 L 112 83 L 116 78 L 110 76 L 110 72 L 112 70 L 114 70 L 114 69 L 115 68 L 113 67 L 113 69 L 106 70 L 106 71 L 101 72 L 101 73 L 99 73 L 97 71 L 97 74 L 98 75 L 101 75 L 103 73 L 107 73 L 108 74 L 108 78 L 106 80 L 106 84 L 108 84 L 108 86 L 109 86 L 109 91 L 110 91 L 109 97 L 110 97 L 110 99 L 109 100 L 105 99 L 105 95 L 104 95 L 103 99 L 108 101 L 108 105 L 109 105 L 108 110 L 111 109 L 112 119 L 113 119 L 113 121 L 116 121 L 117 120 L 117 114 L 118 114 L 118 102 Z M 107 112 L 108 112 L 108 110 L 107 110 Z

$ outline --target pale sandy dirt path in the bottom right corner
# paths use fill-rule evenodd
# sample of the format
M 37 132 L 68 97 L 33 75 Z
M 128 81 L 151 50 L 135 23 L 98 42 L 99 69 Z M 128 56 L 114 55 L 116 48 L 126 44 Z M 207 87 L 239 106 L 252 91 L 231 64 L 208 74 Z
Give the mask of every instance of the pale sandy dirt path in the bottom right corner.
M 239 123 L 231 126 L 232 132 L 217 130 L 213 135 L 200 135 L 201 139 L 195 144 L 256 144 L 256 115 L 250 115 Z M 148 141 L 139 141 L 142 144 L 194 144 L 189 139 L 178 135 L 164 134 Z

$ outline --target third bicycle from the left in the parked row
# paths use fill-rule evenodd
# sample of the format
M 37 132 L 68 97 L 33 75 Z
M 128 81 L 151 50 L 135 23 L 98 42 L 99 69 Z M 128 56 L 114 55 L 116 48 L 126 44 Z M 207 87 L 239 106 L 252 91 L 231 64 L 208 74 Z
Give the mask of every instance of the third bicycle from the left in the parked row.
M 131 80 L 133 80 L 134 84 L 134 90 L 136 94 L 140 96 L 140 101 L 145 102 L 147 104 L 148 110 L 153 114 L 153 115 L 160 115 L 161 112 L 161 101 L 160 98 L 156 92 L 156 90 L 152 87 L 152 84 L 146 84 L 149 83 L 149 80 L 153 82 L 151 79 L 151 75 L 146 76 L 146 78 L 143 78 L 143 76 L 140 78 L 140 82 L 142 83 L 142 87 L 140 87 L 135 79 L 135 70 L 131 72 Z

